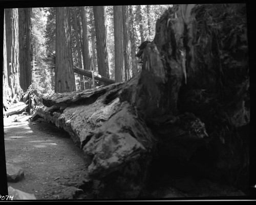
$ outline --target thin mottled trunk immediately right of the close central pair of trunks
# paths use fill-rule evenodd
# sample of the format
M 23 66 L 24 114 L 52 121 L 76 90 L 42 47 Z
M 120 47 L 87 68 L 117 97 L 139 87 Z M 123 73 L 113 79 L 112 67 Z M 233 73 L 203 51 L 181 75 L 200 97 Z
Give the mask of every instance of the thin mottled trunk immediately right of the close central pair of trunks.
M 132 56 L 132 76 L 135 76 L 138 73 L 137 59 L 136 55 L 136 28 L 134 25 L 134 15 L 133 15 L 133 7 L 129 6 L 129 16 L 130 16 L 130 30 L 129 36 L 131 41 L 131 56 Z

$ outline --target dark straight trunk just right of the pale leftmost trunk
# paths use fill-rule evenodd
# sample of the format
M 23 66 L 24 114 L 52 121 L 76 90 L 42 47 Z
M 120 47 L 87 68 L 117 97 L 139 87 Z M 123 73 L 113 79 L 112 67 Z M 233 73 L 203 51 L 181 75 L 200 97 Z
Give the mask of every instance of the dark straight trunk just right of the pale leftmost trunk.
M 32 64 L 31 64 L 31 8 L 18 9 L 19 24 L 19 68 L 20 87 L 24 92 L 31 85 Z

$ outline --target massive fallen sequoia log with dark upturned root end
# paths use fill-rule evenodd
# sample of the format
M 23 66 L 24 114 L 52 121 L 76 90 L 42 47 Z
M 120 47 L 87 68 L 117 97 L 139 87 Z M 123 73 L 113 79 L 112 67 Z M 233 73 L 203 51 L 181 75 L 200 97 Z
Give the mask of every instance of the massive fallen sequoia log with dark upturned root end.
M 247 186 L 244 14 L 245 5 L 169 8 L 133 79 L 42 98 L 36 114 L 83 149 L 99 197 L 138 197 L 152 174 L 175 171 Z

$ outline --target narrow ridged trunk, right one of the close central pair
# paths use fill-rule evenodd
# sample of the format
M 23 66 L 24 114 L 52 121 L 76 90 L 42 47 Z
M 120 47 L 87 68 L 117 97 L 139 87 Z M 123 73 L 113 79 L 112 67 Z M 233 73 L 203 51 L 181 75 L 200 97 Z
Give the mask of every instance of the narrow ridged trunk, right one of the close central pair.
M 124 77 L 125 81 L 132 78 L 131 73 L 131 46 L 129 44 L 129 14 L 128 6 L 122 6 L 123 13 L 123 60 L 124 60 Z

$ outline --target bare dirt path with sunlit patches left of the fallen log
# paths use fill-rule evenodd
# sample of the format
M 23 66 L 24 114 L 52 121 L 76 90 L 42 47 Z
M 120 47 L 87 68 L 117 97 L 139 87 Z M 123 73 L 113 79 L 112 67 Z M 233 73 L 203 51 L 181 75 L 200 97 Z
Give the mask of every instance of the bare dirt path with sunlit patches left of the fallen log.
M 8 186 L 32 193 L 36 199 L 74 197 L 86 166 L 82 150 L 65 132 L 46 122 L 29 122 L 29 117 L 4 117 L 6 161 L 25 173 L 22 181 Z

